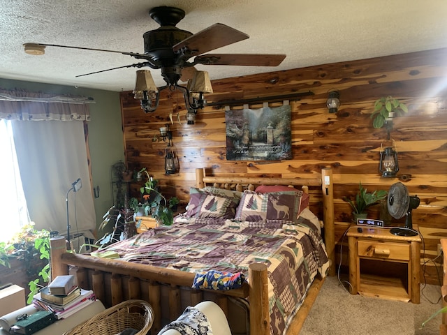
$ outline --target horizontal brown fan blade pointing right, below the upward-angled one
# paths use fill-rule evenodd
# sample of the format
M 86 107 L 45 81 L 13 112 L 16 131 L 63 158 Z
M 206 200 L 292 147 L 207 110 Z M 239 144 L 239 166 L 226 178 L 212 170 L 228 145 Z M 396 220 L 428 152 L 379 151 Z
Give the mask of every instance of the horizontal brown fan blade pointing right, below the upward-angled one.
M 285 54 L 203 54 L 194 61 L 205 65 L 278 66 Z

